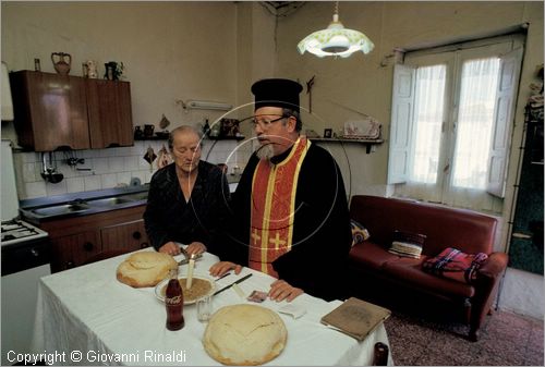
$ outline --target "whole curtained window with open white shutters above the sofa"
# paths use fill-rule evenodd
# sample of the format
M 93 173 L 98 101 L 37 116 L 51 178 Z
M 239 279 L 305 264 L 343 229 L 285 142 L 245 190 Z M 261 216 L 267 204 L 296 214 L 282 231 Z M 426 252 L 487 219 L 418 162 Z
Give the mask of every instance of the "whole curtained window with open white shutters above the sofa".
M 522 40 L 409 52 L 395 66 L 388 183 L 396 196 L 501 211 Z

